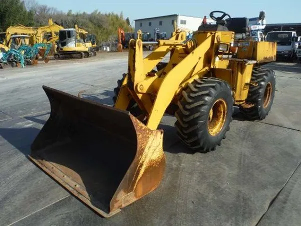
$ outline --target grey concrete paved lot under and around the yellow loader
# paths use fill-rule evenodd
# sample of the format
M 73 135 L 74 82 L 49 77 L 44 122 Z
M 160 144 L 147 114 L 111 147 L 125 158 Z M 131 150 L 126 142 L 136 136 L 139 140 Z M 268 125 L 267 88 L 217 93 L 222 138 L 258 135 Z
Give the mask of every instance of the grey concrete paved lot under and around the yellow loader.
M 125 53 L 0 70 L 0 225 L 299 225 L 301 65 L 272 63 L 274 105 L 260 122 L 236 115 L 216 151 L 191 153 L 165 116 L 166 171 L 154 192 L 102 218 L 26 157 L 49 116 L 47 85 L 112 104 Z M 67 63 L 67 64 L 65 64 Z

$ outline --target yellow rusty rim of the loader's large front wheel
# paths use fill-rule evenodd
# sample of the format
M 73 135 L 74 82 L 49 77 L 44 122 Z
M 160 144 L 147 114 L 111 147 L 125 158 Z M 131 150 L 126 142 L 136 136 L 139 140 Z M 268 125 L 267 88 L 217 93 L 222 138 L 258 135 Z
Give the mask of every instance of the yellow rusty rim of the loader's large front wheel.
M 227 105 L 223 99 L 214 102 L 208 115 L 208 132 L 216 136 L 223 128 L 226 119 Z

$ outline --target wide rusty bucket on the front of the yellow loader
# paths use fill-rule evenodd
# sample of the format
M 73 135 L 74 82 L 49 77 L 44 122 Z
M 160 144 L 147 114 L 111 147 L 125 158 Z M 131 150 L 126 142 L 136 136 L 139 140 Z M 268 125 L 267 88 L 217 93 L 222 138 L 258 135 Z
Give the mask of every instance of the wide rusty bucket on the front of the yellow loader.
M 29 158 L 104 217 L 154 190 L 162 179 L 163 132 L 127 111 L 46 86 L 50 117 Z

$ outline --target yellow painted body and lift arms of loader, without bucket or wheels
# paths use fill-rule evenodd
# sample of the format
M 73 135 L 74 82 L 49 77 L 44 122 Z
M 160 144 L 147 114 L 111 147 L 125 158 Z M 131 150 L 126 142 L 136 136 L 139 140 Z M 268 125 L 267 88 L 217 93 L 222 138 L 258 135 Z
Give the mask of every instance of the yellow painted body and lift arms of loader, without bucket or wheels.
M 263 59 L 273 53 L 267 53 L 264 48 L 271 44 L 250 43 L 246 54 L 239 52 L 237 60 L 232 59 L 230 46 L 234 42 L 233 32 L 205 32 L 198 31 L 193 34 L 194 42 L 182 43 L 182 32 L 175 32 L 170 40 L 158 41 L 158 48 L 143 59 L 142 42 L 140 39 L 131 40 L 129 45 L 128 78 L 131 81 L 122 87 L 130 94 L 138 106 L 147 113 L 146 125 L 156 129 L 166 108 L 181 93 L 181 90 L 194 79 L 201 78 L 210 70 L 216 78 L 227 81 L 233 91 L 236 103 L 244 101 L 247 97 L 253 65 L 242 59 Z M 139 34 L 138 34 L 139 37 Z M 228 45 L 226 52 L 219 52 L 219 44 Z M 239 44 L 240 42 L 238 42 Z M 239 44 L 242 46 L 242 44 Z M 256 47 L 255 55 L 250 51 Z M 239 47 L 240 48 L 240 47 Z M 261 53 L 260 48 L 263 48 Z M 250 52 L 248 52 L 250 51 Z M 265 51 L 265 52 L 264 52 Z M 170 52 L 167 65 L 157 73 L 150 73 L 153 68 Z M 239 60 L 241 59 L 241 60 Z M 272 58 L 265 58 L 272 61 Z M 120 92 L 121 93 L 121 92 Z M 122 91 L 123 93 L 123 91 Z M 117 98 L 115 107 L 125 109 L 126 104 L 122 97 Z M 129 101 L 126 99 L 126 103 Z

